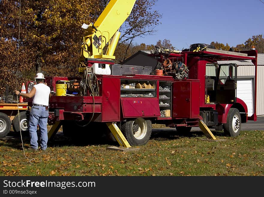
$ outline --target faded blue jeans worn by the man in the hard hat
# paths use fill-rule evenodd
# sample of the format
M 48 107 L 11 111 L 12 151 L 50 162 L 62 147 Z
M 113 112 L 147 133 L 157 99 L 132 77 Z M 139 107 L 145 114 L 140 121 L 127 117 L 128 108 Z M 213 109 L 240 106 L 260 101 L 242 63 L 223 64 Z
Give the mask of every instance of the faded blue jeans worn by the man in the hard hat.
M 30 120 L 29 120 L 29 135 L 30 135 L 30 144 L 32 148 L 38 149 L 37 126 L 39 126 L 39 130 L 41 132 L 41 136 L 40 136 L 41 149 L 45 150 L 47 148 L 48 116 L 49 116 L 49 110 L 46 110 L 45 107 L 32 106 L 31 112 L 30 112 Z

